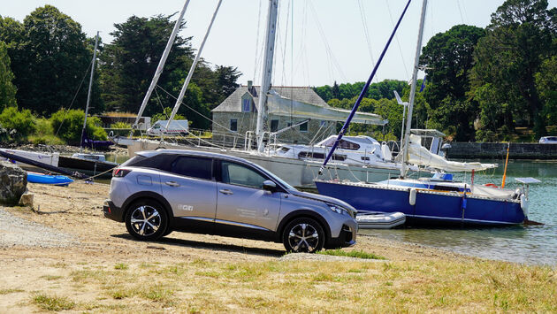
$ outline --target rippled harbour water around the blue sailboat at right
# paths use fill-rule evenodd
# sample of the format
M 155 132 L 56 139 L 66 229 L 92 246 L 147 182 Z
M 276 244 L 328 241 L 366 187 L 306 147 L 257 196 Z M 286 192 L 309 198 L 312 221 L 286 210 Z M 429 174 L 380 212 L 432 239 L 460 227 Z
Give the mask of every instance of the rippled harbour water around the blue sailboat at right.
M 492 161 L 485 161 L 492 162 Z M 474 184 L 501 184 L 500 168 L 477 173 Z M 455 180 L 469 182 L 470 174 Z M 515 178 L 534 177 L 542 183 L 530 186 L 529 219 L 544 226 L 509 226 L 482 229 L 361 230 L 380 238 L 448 249 L 465 255 L 523 264 L 557 264 L 557 161 L 509 161 L 505 188 L 518 188 Z

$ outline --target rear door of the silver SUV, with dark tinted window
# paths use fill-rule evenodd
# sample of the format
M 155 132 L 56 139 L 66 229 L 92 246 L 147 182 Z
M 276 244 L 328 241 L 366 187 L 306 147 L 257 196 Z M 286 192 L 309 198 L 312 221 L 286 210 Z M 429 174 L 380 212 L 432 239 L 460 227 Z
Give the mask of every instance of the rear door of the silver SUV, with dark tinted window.
M 217 183 L 213 180 L 213 159 L 179 156 L 161 172 L 164 198 L 174 217 L 213 221 L 217 211 Z

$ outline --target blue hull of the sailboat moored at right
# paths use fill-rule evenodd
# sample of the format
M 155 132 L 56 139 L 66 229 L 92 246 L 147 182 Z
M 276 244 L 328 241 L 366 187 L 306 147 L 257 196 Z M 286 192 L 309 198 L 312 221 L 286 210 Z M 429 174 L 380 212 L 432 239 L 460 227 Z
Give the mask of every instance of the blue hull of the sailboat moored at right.
M 358 212 L 401 211 L 407 224 L 507 226 L 526 219 L 520 202 L 463 197 L 462 194 L 417 191 L 410 205 L 410 188 L 359 186 L 316 181 L 319 194 L 332 196 L 354 206 Z

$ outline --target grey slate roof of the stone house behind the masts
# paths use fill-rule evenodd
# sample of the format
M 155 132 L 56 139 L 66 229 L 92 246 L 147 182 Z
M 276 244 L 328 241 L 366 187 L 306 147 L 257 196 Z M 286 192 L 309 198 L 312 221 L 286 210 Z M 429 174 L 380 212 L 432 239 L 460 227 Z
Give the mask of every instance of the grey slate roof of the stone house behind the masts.
M 256 88 L 256 93 L 259 95 L 260 87 L 254 86 Z M 280 96 L 294 100 L 300 103 L 310 103 L 313 105 L 317 105 L 319 107 L 328 108 L 329 105 L 324 102 L 321 97 L 317 95 L 315 91 L 311 88 L 306 87 L 283 87 L 277 86 L 272 87 L 271 90 L 274 90 Z M 240 88 L 236 89 L 230 96 L 228 96 L 224 102 L 220 103 L 213 112 L 241 112 L 241 97 L 248 93 L 248 86 L 242 85 Z M 250 94 L 251 95 L 251 94 Z M 254 97 L 254 102 L 257 105 L 258 97 Z

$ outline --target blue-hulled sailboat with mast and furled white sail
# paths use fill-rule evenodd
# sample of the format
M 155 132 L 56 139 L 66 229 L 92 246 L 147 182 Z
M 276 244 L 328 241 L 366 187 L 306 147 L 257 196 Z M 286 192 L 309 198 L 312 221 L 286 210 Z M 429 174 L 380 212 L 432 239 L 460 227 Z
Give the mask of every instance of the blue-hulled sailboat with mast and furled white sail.
M 407 224 L 425 223 L 441 226 L 507 226 L 522 224 L 528 219 L 529 185 L 538 183 L 538 180 L 533 178 L 517 178 L 516 180 L 523 183 L 523 188 L 515 190 L 454 181 L 452 175 L 445 173 L 445 171 L 468 171 L 474 173 L 475 171 L 485 170 L 491 165 L 456 163 L 448 161 L 443 157 L 429 154 L 427 149 L 421 147 L 419 136 L 410 135 L 426 8 L 427 0 L 423 0 L 414 72 L 408 102 L 408 119 L 406 121 L 406 132 L 402 139 L 401 161 L 403 166 L 400 178 L 378 183 L 315 180 L 317 190 L 322 195 L 339 198 L 351 204 L 358 213 L 400 211 L 406 215 Z M 379 62 L 380 59 L 378 64 Z M 356 101 L 353 112 L 360 105 L 362 96 L 365 95 L 378 64 L 371 73 L 367 84 L 362 89 L 362 94 Z M 335 142 L 324 160 L 322 169 L 347 131 L 351 117 L 348 117 L 347 122 L 342 127 L 337 142 Z M 432 178 L 407 179 L 406 172 L 408 168 L 406 163 L 408 162 L 427 166 L 429 169 L 437 169 L 438 173 Z

